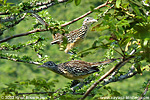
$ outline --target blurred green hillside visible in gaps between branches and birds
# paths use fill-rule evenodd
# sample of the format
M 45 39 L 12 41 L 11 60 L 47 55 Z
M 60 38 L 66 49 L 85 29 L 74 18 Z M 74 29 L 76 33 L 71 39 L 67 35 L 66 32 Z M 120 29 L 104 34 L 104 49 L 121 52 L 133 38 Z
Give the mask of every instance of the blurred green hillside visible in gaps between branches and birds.
M 8 0 L 8 2 L 19 4 L 22 1 L 26 0 Z M 101 1 L 101 0 L 100 0 Z M 90 10 L 90 7 L 96 7 L 100 5 L 103 2 L 100 2 L 99 0 L 81 0 L 81 4 L 79 6 L 76 6 L 73 2 L 66 4 L 59 4 L 52 6 L 48 9 L 49 14 L 52 16 L 54 20 L 58 21 L 70 21 L 74 18 L 77 18 L 81 16 L 82 14 L 86 13 Z M 90 17 L 97 18 L 96 12 L 90 14 Z M 13 30 L 7 30 L 5 31 L 5 34 L 0 37 L 4 38 L 10 35 L 19 34 L 27 32 L 29 29 L 31 29 L 32 23 L 34 23 L 36 19 L 33 17 L 29 17 L 25 21 L 22 21 L 20 24 L 14 27 Z M 101 19 L 100 19 L 101 20 Z M 71 24 L 69 26 L 69 31 L 72 31 L 76 28 L 79 28 L 82 25 L 83 19 Z M 94 25 L 93 25 L 94 26 Z M 93 27 L 91 26 L 91 28 Z M 91 29 L 90 29 L 91 30 Z M 86 48 L 91 47 L 93 42 L 98 39 L 102 35 L 107 35 L 109 33 L 101 33 L 96 31 L 89 31 L 87 34 L 87 37 L 81 45 L 77 47 L 79 50 L 84 50 Z M 62 63 L 67 60 L 69 60 L 70 55 L 65 54 L 63 51 L 59 51 L 58 45 L 50 45 L 50 42 L 52 40 L 50 32 L 41 32 L 40 35 L 44 36 L 47 41 L 44 42 L 45 44 L 45 51 L 44 54 L 49 56 L 49 61 L 54 61 L 55 63 Z M 27 40 L 29 40 L 28 37 L 19 37 L 12 39 L 10 44 L 17 44 L 17 43 L 24 43 Z M 32 58 L 37 58 L 37 55 L 35 52 L 32 51 L 31 48 L 24 48 L 21 50 L 22 52 L 12 51 L 12 53 L 19 54 L 21 56 L 28 54 Z M 102 61 L 105 57 L 107 49 L 98 49 L 96 51 L 93 51 L 93 54 L 89 54 L 86 57 L 82 58 L 83 61 L 88 62 L 97 62 Z M 7 53 L 7 51 L 5 52 Z M 11 52 L 9 52 L 11 53 Z M 118 55 L 116 55 L 119 57 Z M 110 69 L 115 64 L 110 64 L 107 66 L 107 69 Z M 128 69 L 129 66 L 124 66 L 123 69 Z M 143 76 L 144 75 L 144 76 Z M 146 81 L 149 78 L 149 73 L 144 73 L 143 75 L 136 75 L 135 77 L 126 79 L 124 81 L 111 83 L 107 86 L 111 86 L 114 90 L 117 90 L 122 95 L 127 96 L 136 96 L 140 90 L 141 84 L 143 84 L 144 81 Z M 57 79 L 59 82 L 56 84 L 56 89 L 62 88 L 67 85 L 68 82 L 71 80 L 64 78 L 63 76 L 60 76 L 58 74 L 53 73 L 52 71 L 46 70 L 46 69 L 39 69 L 36 65 L 32 64 L 25 64 L 25 63 L 19 63 L 19 62 L 13 62 L 8 60 L 2 60 L 0 59 L 0 88 L 6 87 L 5 84 L 15 82 L 15 81 L 23 81 L 23 80 L 30 80 L 34 78 L 43 78 L 47 81 Z M 60 84 L 61 83 L 61 84 Z M 1 90 L 1 89 L 0 89 Z M 22 90 L 27 91 L 27 90 Z

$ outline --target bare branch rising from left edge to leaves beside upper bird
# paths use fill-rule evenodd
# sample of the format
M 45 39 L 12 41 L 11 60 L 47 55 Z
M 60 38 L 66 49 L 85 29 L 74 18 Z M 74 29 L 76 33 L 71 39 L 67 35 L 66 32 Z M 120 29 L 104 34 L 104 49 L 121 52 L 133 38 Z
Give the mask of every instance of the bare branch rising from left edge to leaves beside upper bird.
M 47 31 L 47 30 L 46 29 L 34 29 L 34 30 L 26 32 L 26 33 L 16 34 L 16 35 L 7 37 L 5 39 L 2 39 L 2 40 L 0 40 L 0 43 L 6 42 L 6 41 L 13 39 L 13 38 L 16 38 L 16 37 L 27 36 L 27 35 L 35 33 L 35 32 L 44 32 L 44 31 Z

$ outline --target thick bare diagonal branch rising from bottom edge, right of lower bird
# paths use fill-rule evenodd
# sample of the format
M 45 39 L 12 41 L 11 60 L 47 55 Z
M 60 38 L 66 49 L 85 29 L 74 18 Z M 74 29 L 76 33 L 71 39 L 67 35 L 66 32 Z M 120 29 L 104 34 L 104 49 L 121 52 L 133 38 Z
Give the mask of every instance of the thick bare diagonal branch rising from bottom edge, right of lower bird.
M 108 77 L 110 74 L 112 74 L 117 68 L 124 66 L 129 60 L 131 60 L 134 56 L 131 56 L 127 59 L 125 59 L 124 61 L 119 62 L 115 67 L 113 67 L 112 69 L 110 69 L 107 73 L 105 73 L 98 81 L 96 81 L 83 95 L 83 97 L 81 98 L 81 100 L 85 99 L 89 93 L 101 82 L 103 81 L 106 77 Z

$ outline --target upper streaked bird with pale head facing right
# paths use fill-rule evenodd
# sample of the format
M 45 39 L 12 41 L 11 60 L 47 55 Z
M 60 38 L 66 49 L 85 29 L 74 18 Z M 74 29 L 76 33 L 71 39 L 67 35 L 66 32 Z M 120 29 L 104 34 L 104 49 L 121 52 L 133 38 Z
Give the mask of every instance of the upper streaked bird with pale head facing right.
M 92 17 L 86 17 L 83 21 L 82 26 L 79 29 L 73 30 L 69 32 L 69 34 L 64 35 L 60 33 L 54 34 L 51 44 L 59 44 L 61 46 L 61 44 L 64 42 L 64 38 L 66 38 L 67 46 L 65 47 L 64 52 L 69 53 L 69 50 L 76 47 L 84 40 L 90 25 L 95 22 L 97 22 L 96 19 L 93 19 Z

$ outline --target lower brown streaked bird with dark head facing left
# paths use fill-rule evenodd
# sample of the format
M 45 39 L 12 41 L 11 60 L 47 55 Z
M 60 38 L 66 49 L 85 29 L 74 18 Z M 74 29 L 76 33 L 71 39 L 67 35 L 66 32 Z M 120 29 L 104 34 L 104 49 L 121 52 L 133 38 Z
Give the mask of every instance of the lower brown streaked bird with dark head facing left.
M 48 70 L 60 74 L 68 79 L 83 81 L 92 73 L 98 72 L 98 66 L 109 64 L 117 59 L 109 59 L 102 62 L 85 62 L 82 60 L 71 60 L 60 64 L 55 64 L 53 61 L 48 61 L 43 65 L 38 66 L 38 68 L 47 68 Z

